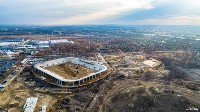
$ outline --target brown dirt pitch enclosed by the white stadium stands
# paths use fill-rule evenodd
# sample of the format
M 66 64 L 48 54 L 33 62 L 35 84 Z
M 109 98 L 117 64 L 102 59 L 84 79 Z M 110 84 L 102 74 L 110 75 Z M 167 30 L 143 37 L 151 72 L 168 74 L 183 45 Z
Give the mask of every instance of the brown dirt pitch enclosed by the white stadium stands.
M 47 67 L 46 69 L 54 73 L 57 73 L 60 76 L 65 77 L 66 79 L 82 78 L 89 75 L 90 73 L 96 72 L 95 70 L 88 69 L 80 65 L 73 64 L 71 62 L 60 64 L 57 66 L 50 66 Z

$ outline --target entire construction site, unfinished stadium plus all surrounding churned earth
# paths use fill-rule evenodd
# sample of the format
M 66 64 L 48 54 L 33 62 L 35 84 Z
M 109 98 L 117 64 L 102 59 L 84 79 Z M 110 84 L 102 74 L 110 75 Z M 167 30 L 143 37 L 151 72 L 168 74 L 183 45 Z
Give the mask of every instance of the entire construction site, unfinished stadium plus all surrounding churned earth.
M 166 53 L 120 49 L 97 53 L 95 47 L 102 43 L 83 40 L 41 49 L 15 65 L 16 71 L 1 85 L 0 112 L 184 112 L 200 108 L 199 69 L 173 70 L 176 67 L 168 65 L 169 60 L 160 59 Z

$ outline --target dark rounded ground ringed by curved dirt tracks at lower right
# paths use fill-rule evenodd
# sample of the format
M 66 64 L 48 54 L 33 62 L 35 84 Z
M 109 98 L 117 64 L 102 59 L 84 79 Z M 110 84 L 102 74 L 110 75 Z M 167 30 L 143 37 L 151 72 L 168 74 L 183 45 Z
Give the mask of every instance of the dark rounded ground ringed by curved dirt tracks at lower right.
M 199 108 L 200 106 L 188 99 L 187 95 L 182 93 L 181 88 L 171 88 L 176 86 L 134 80 L 117 81 L 113 85 L 113 89 L 108 91 L 104 97 L 100 111 L 183 112 L 188 108 Z M 192 97 L 190 96 L 190 98 Z

